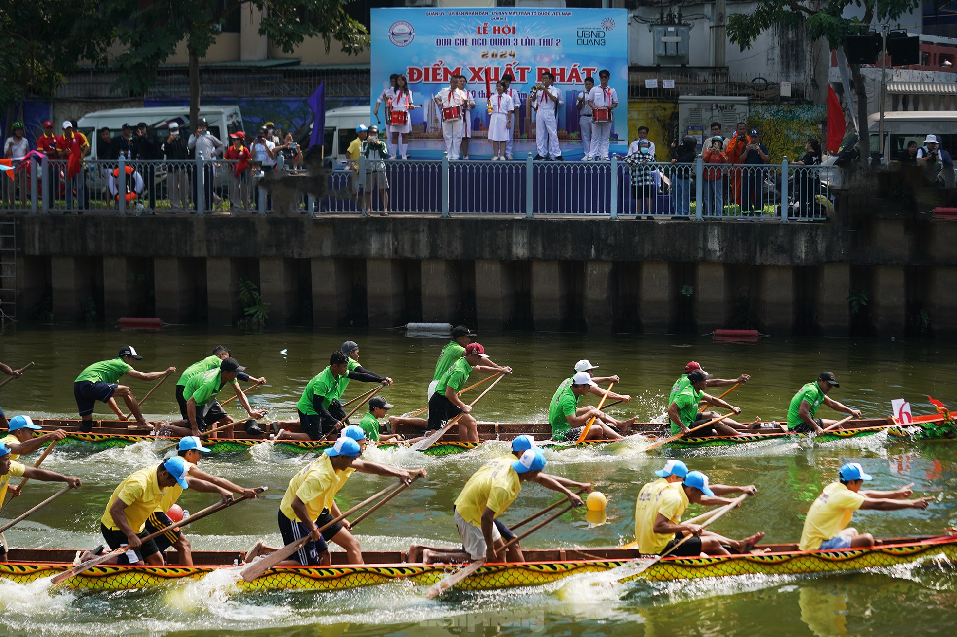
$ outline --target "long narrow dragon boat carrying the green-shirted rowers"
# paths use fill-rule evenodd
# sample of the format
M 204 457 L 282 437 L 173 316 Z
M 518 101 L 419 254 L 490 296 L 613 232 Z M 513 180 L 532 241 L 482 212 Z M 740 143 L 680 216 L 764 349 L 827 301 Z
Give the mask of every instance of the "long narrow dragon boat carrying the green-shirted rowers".
M 59 444 L 87 444 L 97 449 L 108 449 L 114 447 L 125 447 L 140 442 L 172 444 L 178 437 L 158 435 L 145 429 L 127 428 L 127 423 L 123 421 L 95 421 L 94 427 L 89 432 L 79 430 L 78 420 L 62 419 L 33 419 L 36 425 L 42 430 L 37 431 L 37 435 L 62 428 L 67 431 L 66 438 Z M 952 422 L 944 415 L 932 414 L 927 416 L 917 416 L 913 422 L 903 426 L 898 425 L 890 418 L 852 420 L 845 423 L 841 428 L 835 428 L 821 435 L 813 437 L 815 443 L 833 442 L 836 440 L 846 440 L 848 438 L 859 438 L 863 436 L 874 435 L 880 431 L 886 430 L 888 435 L 894 439 L 937 439 L 946 438 L 954 435 Z M 261 428 L 267 429 L 266 424 Z M 295 428 L 290 428 L 295 430 Z M 636 423 L 632 427 L 632 432 L 639 436 L 644 436 L 646 440 L 656 441 L 659 438 L 670 435 L 670 428 L 664 423 Z M 399 425 L 396 433 L 401 433 L 409 437 L 421 435 L 421 430 L 414 429 L 405 425 Z M 581 444 L 551 441 L 551 427 L 547 423 L 479 423 L 480 442 L 463 442 L 459 440 L 456 432 L 446 433 L 441 440 L 424 452 L 429 455 L 449 455 L 462 451 L 474 450 L 479 445 L 492 441 L 510 441 L 523 433 L 535 436 L 536 440 L 544 441 L 542 446 L 552 450 L 581 449 L 585 447 L 607 447 L 612 444 L 622 444 L 628 442 L 631 436 L 623 440 L 587 440 Z M 213 434 L 218 435 L 218 434 Z M 786 431 L 780 427 L 765 427 L 755 429 L 747 435 L 736 436 L 685 436 L 669 442 L 665 448 L 673 450 L 698 449 L 703 447 L 734 447 L 740 445 L 753 445 L 760 442 L 775 440 L 799 440 L 809 438 L 809 434 L 794 433 Z M 326 441 L 299 441 L 299 440 L 281 440 L 273 441 L 268 434 L 249 434 L 242 429 L 242 425 L 237 423 L 234 433 L 230 437 L 213 437 L 204 441 L 204 444 L 213 451 L 242 451 L 249 450 L 255 445 L 267 443 L 273 445 L 276 450 L 291 452 L 306 452 L 311 450 L 323 450 L 332 446 L 332 440 Z M 411 447 L 407 442 L 380 442 L 377 443 L 380 449 L 396 450 L 408 449 Z

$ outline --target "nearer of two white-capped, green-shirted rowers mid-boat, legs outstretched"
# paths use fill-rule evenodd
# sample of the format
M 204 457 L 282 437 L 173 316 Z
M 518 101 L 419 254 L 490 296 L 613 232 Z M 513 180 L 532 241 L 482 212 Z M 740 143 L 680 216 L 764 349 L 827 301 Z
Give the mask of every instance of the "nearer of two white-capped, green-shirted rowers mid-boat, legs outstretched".
M 558 442 L 576 442 L 582 431 L 593 417 L 586 440 L 620 440 L 623 434 L 634 424 L 634 418 L 617 421 L 596 406 L 578 406 L 582 396 L 597 387 L 587 371 L 580 371 L 571 377 L 571 383 L 559 384 L 555 395 L 548 403 L 548 424 L 551 425 L 551 439 Z M 619 429 L 612 428 L 607 422 L 616 423 Z

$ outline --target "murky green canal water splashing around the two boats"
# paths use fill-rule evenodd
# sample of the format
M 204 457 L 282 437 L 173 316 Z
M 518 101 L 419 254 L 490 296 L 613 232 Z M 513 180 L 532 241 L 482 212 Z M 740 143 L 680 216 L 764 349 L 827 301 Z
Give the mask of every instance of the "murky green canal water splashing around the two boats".
M 425 406 L 434 361 L 447 341 L 410 338 L 397 331 L 296 330 L 246 334 L 230 328 L 171 328 L 125 332 L 112 328 L 20 328 L 0 339 L 0 360 L 13 366 L 35 362 L 24 377 L 0 389 L 8 417 L 76 417 L 72 383 L 88 363 L 112 358 L 124 344 L 144 356 L 143 371 L 175 365 L 179 370 L 209 355 L 216 344 L 268 386 L 251 394 L 270 418 L 295 418 L 304 384 L 328 363 L 344 340 L 360 345 L 364 366 L 395 380 L 384 389 L 393 413 Z M 617 374 L 615 391 L 633 397 L 614 407 L 621 417 L 651 422 L 663 418 L 668 391 L 685 362 L 710 373 L 751 381 L 727 398 L 742 417 L 782 420 L 790 397 L 823 370 L 841 386 L 830 395 L 867 417 L 885 417 L 890 401 L 905 398 L 915 415 L 931 413 L 926 396 L 957 408 L 957 347 L 932 340 L 837 340 L 768 338 L 749 343 L 711 338 L 554 333 L 486 333 L 486 352 L 515 374 L 476 407 L 479 420 L 544 422 L 555 386 L 587 358 L 600 374 Z M 473 379 L 475 380 L 475 379 Z M 138 397 L 149 384 L 130 379 Z M 367 386 L 352 383 L 346 398 Z M 167 381 L 145 406 L 147 418 L 176 415 L 173 382 Z M 98 413 L 108 414 L 99 406 Z M 230 406 L 231 412 L 239 410 Z M 819 415 L 829 417 L 826 407 Z M 839 417 L 839 416 L 838 416 Z M 835 443 L 777 441 L 746 448 L 659 452 L 637 440 L 602 449 L 546 451 L 547 472 L 588 480 L 608 495 L 607 520 L 592 525 L 574 511 L 523 541 L 526 548 L 614 546 L 634 539 L 634 498 L 652 472 L 671 455 L 681 455 L 713 482 L 754 484 L 758 495 L 716 522 L 730 537 L 756 531 L 768 541 L 794 541 L 813 498 L 845 461 L 874 474 L 875 489 L 915 483 L 916 494 L 935 496 L 926 511 L 858 512 L 854 525 L 879 537 L 933 535 L 957 524 L 951 489 L 957 485 L 952 441 L 900 443 L 884 434 Z M 409 450 L 368 450 L 367 458 L 405 468 L 425 467 L 428 478 L 398 496 L 356 529 L 364 548 L 398 550 L 410 543 L 455 543 L 452 503 L 472 472 L 507 449 L 488 443 L 479 450 L 429 457 Z M 101 450 L 56 449 L 44 467 L 75 474 L 83 488 L 7 532 L 15 547 L 89 548 L 100 543 L 99 518 L 116 484 L 130 472 L 158 462 L 152 446 Z M 366 456 L 364 456 L 366 457 Z M 32 463 L 35 454 L 24 461 Z M 194 549 L 244 551 L 257 538 L 280 542 L 276 510 L 302 456 L 257 446 L 211 454 L 204 471 L 243 485 L 266 485 L 267 496 L 242 503 L 189 527 Z M 357 474 L 340 494 L 340 506 L 386 486 L 382 478 Z M 15 516 L 50 494 L 55 484 L 31 483 L 5 512 Z M 556 497 L 529 485 L 502 516 L 507 524 L 544 508 Z M 197 511 L 210 495 L 187 492 L 184 507 Z M 701 511 L 692 507 L 687 516 Z M 595 585 L 601 584 L 601 585 Z M 165 588 L 96 592 L 50 592 L 35 585 L 0 581 L 0 635 L 914 635 L 952 634 L 957 573 L 939 569 L 887 568 L 832 576 L 776 576 L 694 582 L 609 582 L 570 578 L 546 586 L 487 592 L 455 592 L 425 601 L 408 582 L 334 593 L 239 593 L 225 580 Z

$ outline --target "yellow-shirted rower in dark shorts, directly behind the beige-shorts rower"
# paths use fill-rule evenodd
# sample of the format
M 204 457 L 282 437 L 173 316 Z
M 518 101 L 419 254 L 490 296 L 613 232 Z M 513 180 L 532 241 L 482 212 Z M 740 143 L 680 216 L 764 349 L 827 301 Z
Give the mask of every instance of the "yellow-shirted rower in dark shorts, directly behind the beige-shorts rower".
M 345 363 L 344 363 L 345 364 Z M 356 431 L 358 429 L 358 431 Z M 286 544 L 300 538 L 309 537 L 309 541 L 293 554 L 293 558 L 279 565 L 328 566 L 331 562 L 327 542 L 334 541 L 345 549 L 346 560 L 350 564 L 363 563 L 362 547 L 351 533 L 348 520 L 343 519 L 320 531 L 320 528 L 342 515 L 336 504 L 335 495 L 345 486 L 345 481 L 353 472 L 375 473 L 397 477 L 409 484 L 413 475 L 425 477 L 424 469 L 406 471 L 388 465 L 379 465 L 359 460 L 362 450 L 352 435 L 362 435 L 362 428 L 346 427 L 347 435 L 336 440 L 335 445 L 325 450 L 316 460 L 297 472 L 286 488 L 279 504 L 278 524 L 282 541 Z M 256 546 L 246 554 L 246 561 L 252 561 L 259 555 L 272 553 L 277 549 Z

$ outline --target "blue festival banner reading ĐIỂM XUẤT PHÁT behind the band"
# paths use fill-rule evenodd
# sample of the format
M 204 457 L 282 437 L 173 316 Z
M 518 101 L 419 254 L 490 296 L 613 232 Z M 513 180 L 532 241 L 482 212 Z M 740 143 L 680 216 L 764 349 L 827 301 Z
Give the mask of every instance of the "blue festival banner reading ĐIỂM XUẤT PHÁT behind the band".
M 628 11 L 623 9 L 373 9 L 371 10 L 371 105 L 389 87 L 389 76 L 408 78 L 412 92 L 410 150 L 416 157 L 440 156 L 442 113 L 434 96 L 449 86 L 453 75 L 466 78 L 466 91 L 475 100 L 469 111 L 473 150 L 491 154 L 488 134 L 488 95 L 505 74 L 520 94 L 516 157 L 534 151 L 531 87 L 550 72 L 562 94 L 558 137 L 569 158 L 581 153 L 581 126 L 576 108 L 585 77 L 599 83 L 608 69 L 609 86 L 618 94 L 613 111 L 612 150 L 628 143 Z M 386 124 L 384 105 L 372 121 Z M 577 151 L 577 152 L 575 152 Z M 520 155 L 521 152 L 521 155 Z

